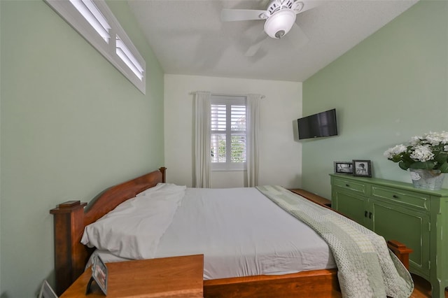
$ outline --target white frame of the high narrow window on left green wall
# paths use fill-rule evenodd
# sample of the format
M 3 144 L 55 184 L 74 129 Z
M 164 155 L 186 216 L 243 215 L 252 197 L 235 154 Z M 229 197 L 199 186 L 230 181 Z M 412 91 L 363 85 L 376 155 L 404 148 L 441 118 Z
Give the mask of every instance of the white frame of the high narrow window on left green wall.
M 146 61 L 140 55 L 139 50 L 134 46 L 129 36 L 127 36 L 120 22 L 113 15 L 109 6 L 104 0 L 92 0 L 98 10 L 102 13 L 111 29 L 109 29 L 109 42 L 98 34 L 85 17 L 76 9 L 69 0 L 44 0 L 55 12 L 61 16 L 67 23 L 73 27 L 78 33 L 85 38 L 95 49 L 98 50 L 113 66 L 118 69 L 123 76 L 130 80 L 143 94 L 146 94 Z M 127 66 L 121 57 L 117 54 L 116 36 L 119 36 L 126 48 L 132 53 L 134 58 L 139 62 L 139 66 L 143 69 L 139 78 L 134 71 Z

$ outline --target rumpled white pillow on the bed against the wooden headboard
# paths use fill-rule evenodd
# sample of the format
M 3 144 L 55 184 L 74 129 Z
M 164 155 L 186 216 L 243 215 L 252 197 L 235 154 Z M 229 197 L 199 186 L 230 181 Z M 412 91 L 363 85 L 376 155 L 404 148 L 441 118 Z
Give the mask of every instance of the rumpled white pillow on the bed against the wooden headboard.
M 150 259 L 172 222 L 186 187 L 162 185 L 158 190 L 118 205 L 84 229 L 81 243 L 119 257 Z

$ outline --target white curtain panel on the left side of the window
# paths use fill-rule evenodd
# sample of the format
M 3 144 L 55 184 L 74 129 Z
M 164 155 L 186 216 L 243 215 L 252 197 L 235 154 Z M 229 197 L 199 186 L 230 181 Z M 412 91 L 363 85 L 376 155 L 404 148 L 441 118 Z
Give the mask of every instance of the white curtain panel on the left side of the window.
M 195 187 L 210 188 L 210 97 L 211 92 L 194 92 L 195 97 Z

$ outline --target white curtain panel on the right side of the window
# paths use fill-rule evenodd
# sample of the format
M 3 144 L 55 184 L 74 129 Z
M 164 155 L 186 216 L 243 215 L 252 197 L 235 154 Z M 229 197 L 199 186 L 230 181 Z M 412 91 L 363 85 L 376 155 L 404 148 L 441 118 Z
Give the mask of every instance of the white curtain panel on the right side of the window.
M 246 178 L 247 186 L 258 185 L 258 146 L 260 146 L 260 94 L 248 94 L 246 100 Z

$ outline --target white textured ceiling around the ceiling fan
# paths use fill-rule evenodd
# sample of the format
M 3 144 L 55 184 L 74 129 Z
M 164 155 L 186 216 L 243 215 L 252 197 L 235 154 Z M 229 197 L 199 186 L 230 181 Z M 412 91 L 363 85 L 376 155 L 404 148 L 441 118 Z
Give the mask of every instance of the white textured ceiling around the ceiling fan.
M 165 73 L 302 82 L 393 20 L 417 0 L 309 0 L 297 15 L 309 41 L 269 39 L 246 50 L 264 21 L 221 22 L 222 8 L 265 9 L 267 0 L 128 0 Z M 290 34 L 293 36 L 293 34 Z

